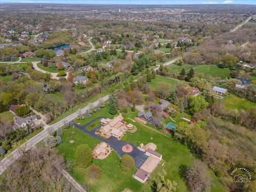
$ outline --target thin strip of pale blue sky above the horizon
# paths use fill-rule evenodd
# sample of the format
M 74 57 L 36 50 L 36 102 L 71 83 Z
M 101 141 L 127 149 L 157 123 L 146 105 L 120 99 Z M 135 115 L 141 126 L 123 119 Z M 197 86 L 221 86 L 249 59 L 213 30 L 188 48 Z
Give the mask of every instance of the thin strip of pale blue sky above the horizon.
M 0 2 L 73 4 L 256 4 L 256 0 L 0 0 Z

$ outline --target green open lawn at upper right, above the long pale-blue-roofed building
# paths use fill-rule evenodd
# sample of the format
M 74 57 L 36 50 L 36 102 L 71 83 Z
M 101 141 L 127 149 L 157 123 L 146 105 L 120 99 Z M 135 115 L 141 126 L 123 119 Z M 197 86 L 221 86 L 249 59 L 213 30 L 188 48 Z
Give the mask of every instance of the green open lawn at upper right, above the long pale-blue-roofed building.
M 196 76 L 206 78 L 209 77 L 221 77 L 221 79 L 230 78 L 231 69 L 222 69 L 217 66 L 202 66 L 194 68 Z

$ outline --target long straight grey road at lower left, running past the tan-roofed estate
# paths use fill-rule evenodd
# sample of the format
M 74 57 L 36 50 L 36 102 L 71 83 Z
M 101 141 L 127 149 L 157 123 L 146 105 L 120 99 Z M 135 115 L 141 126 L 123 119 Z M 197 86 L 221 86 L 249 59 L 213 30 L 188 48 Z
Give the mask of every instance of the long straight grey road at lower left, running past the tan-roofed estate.
M 108 100 L 109 95 L 106 95 L 105 97 L 101 98 L 103 101 L 107 101 Z M 92 103 L 93 106 L 97 106 L 99 104 L 99 100 L 95 101 Z M 85 113 L 85 111 L 89 109 L 89 106 L 87 105 L 86 107 L 80 109 L 79 111 L 81 111 L 81 113 Z M 52 128 L 52 130 L 57 130 L 59 127 L 65 125 L 65 123 L 72 121 L 73 119 L 75 119 L 79 113 L 77 113 L 78 111 L 76 111 L 75 113 L 67 116 L 66 118 L 61 119 L 59 122 L 49 126 L 46 125 L 44 128 L 44 130 L 40 133 L 38 133 L 37 135 L 35 135 L 35 137 L 31 138 L 30 140 L 28 140 L 27 142 L 23 143 L 20 147 L 18 147 L 17 149 L 15 149 L 14 151 L 12 151 L 12 153 L 10 155 L 8 155 L 7 157 L 5 157 L 1 162 L 0 162 L 0 175 L 4 172 L 4 170 L 7 169 L 7 167 L 9 165 L 11 165 L 19 156 L 20 156 L 20 151 L 22 150 L 29 150 L 31 149 L 33 146 L 35 146 L 39 141 L 43 140 L 49 133 L 48 133 L 48 129 L 49 127 Z

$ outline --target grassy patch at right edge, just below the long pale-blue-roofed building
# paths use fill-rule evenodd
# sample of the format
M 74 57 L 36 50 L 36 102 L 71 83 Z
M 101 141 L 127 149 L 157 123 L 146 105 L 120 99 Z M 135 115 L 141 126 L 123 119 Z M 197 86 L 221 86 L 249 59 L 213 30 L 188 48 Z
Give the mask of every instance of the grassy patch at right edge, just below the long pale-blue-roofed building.
M 251 108 L 256 107 L 256 103 L 247 99 L 238 98 L 233 94 L 227 95 L 224 102 L 225 106 L 230 109 L 250 110 Z

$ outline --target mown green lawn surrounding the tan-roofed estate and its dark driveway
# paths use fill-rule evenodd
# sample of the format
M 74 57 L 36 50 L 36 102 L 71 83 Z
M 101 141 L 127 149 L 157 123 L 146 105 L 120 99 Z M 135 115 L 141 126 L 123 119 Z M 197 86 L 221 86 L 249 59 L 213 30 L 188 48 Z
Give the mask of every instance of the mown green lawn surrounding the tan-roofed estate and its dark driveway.
M 105 112 L 104 112 L 105 111 Z M 134 118 L 138 111 L 132 112 L 128 109 L 128 113 L 123 113 L 124 117 Z M 97 116 L 109 116 L 108 105 L 102 108 L 101 111 L 93 114 L 92 117 L 87 118 L 86 121 L 80 121 L 82 123 L 89 122 Z M 76 120 L 76 122 L 78 122 Z M 157 145 L 157 150 L 159 153 L 163 154 L 164 164 L 158 165 L 157 169 L 151 174 L 151 178 L 154 177 L 159 171 L 165 169 L 167 172 L 167 178 L 174 180 L 178 183 L 177 191 L 188 191 L 186 182 L 179 175 L 180 165 L 189 165 L 195 157 L 190 153 L 186 146 L 183 146 L 177 140 L 174 140 L 169 133 L 164 133 L 153 127 L 150 129 L 148 126 L 141 125 L 139 123 L 134 123 L 128 120 L 127 123 L 132 123 L 137 126 L 137 131 L 135 133 L 127 132 L 123 137 L 123 140 L 133 142 L 134 145 L 138 146 L 140 143 L 154 142 Z M 62 143 L 57 146 L 59 153 L 63 154 L 65 160 L 68 162 L 74 162 L 75 150 L 78 145 L 86 143 L 93 150 L 99 140 L 90 137 L 90 135 L 76 129 L 75 127 L 69 127 L 68 130 L 63 130 L 64 134 L 62 136 Z M 71 140 L 71 132 L 75 132 L 75 136 L 72 138 L 75 142 L 69 143 Z M 83 186 L 90 182 L 91 191 L 122 191 L 125 188 L 129 188 L 132 191 L 151 191 L 151 182 L 146 182 L 144 184 L 132 178 L 135 170 L 131 172 L 123 172 L 119 167 L 119 157 L 115 151 L 111 151 L 111 154 L 103 160 L 93 159 L 93 164 L 100 166 L 102 176 L 96 181 L 90 181 L 87 178 L 86 169 L 73 169 L 70 174 Z M 212 192 L 226 191 L 221 185 L 219 179 L 215 177 L 214 173 L 209 170 L 211 174 L 213 185 Z

